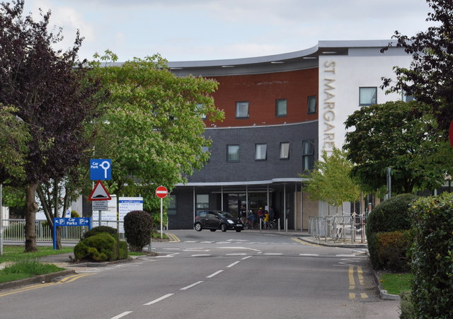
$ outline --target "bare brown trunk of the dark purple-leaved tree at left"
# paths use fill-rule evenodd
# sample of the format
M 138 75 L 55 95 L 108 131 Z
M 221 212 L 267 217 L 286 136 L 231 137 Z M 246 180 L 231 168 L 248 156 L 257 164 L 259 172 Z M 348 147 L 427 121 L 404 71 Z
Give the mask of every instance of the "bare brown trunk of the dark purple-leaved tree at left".
M 38 251 L 36 247 L 36 211 L 38 204 L 35 202 L 35 193 L 39 182 L 27 186 L 25 193 L 25 253 Z

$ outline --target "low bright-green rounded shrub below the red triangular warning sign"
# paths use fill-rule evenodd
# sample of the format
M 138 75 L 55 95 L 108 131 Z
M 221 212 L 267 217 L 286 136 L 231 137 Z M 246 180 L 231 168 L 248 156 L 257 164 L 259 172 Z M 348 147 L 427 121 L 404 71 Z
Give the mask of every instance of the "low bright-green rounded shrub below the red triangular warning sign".
M 74 247 L 76 260 L 93 260 L 96 262 L 117 260 L 118 241 L 110 233 L 97 233 L 81 240 Z

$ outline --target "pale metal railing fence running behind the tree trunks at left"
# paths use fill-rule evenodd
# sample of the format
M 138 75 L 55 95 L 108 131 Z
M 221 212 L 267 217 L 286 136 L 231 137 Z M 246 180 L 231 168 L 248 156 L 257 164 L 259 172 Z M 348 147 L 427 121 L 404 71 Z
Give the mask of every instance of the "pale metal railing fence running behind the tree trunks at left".
M 96 227 L 99 221 L 91 221 L 91 226 Z M 122 221 L 101 221 L 102 226 L 110 226 L 118 230 L 121 240 L 125 239 Z M 52 243 L 52 230 L 45 220 L 37 220 L 35 223 L 36 242 Z M 62 227 L 62 243 L 79 243 L 81 236 L 88 231 L 88 226 Z M 5 242 L 25 241 L 25 219 L 4 219 L 3 240 Z

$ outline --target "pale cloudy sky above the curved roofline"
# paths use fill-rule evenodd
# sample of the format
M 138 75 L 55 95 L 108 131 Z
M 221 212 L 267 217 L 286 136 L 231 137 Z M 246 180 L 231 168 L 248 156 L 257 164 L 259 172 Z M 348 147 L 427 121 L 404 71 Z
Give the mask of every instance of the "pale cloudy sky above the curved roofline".
M 386 40 L 426 30 L 425 0 L 25 0 L 52 11 L 66 49 L 79 29 L 82 59 L 109 49 L 120 62 L 160 53 L 168 61 L 260 57 L 319 40 Z

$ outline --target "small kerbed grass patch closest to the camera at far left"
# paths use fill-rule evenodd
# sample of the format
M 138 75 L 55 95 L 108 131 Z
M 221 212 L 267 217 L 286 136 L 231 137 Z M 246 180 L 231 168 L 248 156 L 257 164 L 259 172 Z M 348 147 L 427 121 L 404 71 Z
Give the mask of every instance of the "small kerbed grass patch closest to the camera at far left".
M 61 270 L 64 269 L 53 264 L 45 264 L 37 260 L 21 260 L 0 270 L 0 283 L 13 282 L 38 274 L 50 274 Z

